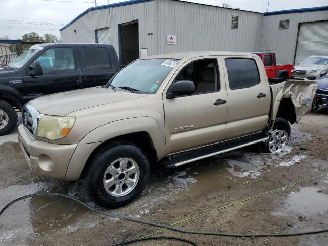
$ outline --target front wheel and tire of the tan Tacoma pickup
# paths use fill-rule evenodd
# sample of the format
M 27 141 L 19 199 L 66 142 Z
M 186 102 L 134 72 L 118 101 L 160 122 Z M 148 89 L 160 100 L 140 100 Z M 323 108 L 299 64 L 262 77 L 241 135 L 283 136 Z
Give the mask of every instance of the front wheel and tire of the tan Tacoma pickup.
M 84 173 L 84 186 L 100 206 L 117 208 L 144 191 L 149 175 L 147 155 L 129 142 L 118 142 L 95 154 Z

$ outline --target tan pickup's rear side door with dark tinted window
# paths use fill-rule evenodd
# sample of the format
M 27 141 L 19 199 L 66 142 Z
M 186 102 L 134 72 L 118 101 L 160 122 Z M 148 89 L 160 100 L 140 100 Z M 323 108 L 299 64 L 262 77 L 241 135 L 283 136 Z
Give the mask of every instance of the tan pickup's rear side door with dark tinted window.
M 262 61 L 254 56 L 222 57 L 229 98 L 228 139 L 262 131 L 270 110 L 270 88 Z

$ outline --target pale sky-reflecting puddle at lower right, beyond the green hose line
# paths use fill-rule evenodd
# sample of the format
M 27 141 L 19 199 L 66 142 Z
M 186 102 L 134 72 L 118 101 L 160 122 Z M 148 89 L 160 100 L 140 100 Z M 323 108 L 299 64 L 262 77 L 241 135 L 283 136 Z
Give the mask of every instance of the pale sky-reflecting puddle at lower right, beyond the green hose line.
M 327 179 L 326 179 L 327 180 Z M 326 188 L 321 187 L 302 187 L 297 192 L 290 193 L 283 202 L 283 207 L 273 215 L 298 217 L 319 216 L 328 213 L 328 194 Z

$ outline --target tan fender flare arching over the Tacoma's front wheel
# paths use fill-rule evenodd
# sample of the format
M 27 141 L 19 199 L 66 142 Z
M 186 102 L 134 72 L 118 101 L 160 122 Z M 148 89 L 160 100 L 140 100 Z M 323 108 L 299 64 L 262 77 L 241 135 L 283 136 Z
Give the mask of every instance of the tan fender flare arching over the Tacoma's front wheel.
M 110 122 L 89 132 L 80 140 L 79 144 L 104 142 L 114 137 L 135 132 L 147 132 L 158 158 L 165 156 L 165 138 L 158 122 L 152 117 L 136 117 Z

